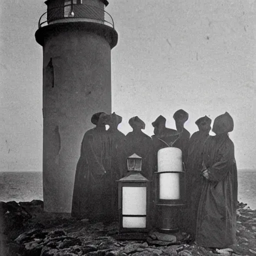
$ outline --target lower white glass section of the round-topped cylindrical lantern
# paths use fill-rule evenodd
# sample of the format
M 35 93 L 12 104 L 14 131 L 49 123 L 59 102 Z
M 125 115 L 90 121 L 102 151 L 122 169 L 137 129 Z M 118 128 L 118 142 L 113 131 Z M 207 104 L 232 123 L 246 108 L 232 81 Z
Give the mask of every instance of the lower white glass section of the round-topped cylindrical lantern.
M 180 199 L 179 173 L 159 174 L 159 199 Z

